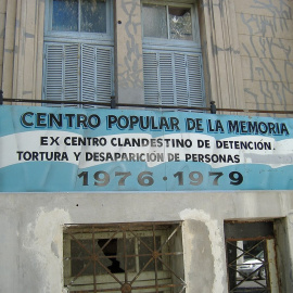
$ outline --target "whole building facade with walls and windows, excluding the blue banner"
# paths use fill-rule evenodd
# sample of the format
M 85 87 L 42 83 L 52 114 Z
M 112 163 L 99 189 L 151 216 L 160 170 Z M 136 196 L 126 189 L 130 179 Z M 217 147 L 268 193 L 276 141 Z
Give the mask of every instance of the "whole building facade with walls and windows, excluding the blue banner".
M 166 111 L 160 106 L 175 106 L 181 110 L 171 112 L 176 130 L 176 117 L 186 115 L 182 107 L 196 115 L 194 109 L 215 101 L 222 110 L 217 117 L 265 117 L 271 125 L 288 125 L 282 135 L 290 141 L 292 9 L 291 0 L 0 0 L 0 107 L 26 109 L 28 128 L 31 109 L 56 109 L 55 101 L 68 106 L 63 105 L 64 113 L 78 113 L 98 104 L 104 109 L 114 99 L 118 109 L 107 113 L 131 117 L 144 115 L 131 105 L 160 113 Z M 128 105 L 126 112 L 122 104 Z M 127 114 L 129 109 L 133 112 Z M 199 115 L 208 120 L 214 114 Z M 38 123 L 42 126 L 42 117 Z M 3 138 L 7 128 L 0 125 Z M 292 146 L 288 150 L 290 167 Z M 3 176 L 0 184 L 21 186 L 28 169 Z M 180 171 L 174 171 L 179 186 Z M 255 181 L 264 180 L 262 173 Z M 219 174 L 208 174 L 216 186 Z M 292 292 L 293 175 L 290 168 L 281 174 L 286 178 L 281 188 L 266 179 L 258 189 L 243 190 L 1 189 L 1 288 Z M 87 175 L 78 175 L 84 186 Z M 94 174 L 95 186 L 106 184 L 107 175 Z M 127 176 L 117 174 L 120 187 Z M 190 184 L 201 184 L 202 176 L 190 173 Z M 229 179 L 232 187 L 243 181 L 238 169 Z M 154 180 L 148 171 L 138 177 L 140 187 Z M 245 275 L 245 266 L 255 269 Z

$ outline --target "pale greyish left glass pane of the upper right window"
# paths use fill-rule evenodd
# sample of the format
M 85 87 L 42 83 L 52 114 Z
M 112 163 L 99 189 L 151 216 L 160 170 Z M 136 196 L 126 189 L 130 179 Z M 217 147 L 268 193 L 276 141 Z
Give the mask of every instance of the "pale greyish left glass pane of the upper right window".
M 143 5 L 143 36 L 168 38 L 166 7 Z

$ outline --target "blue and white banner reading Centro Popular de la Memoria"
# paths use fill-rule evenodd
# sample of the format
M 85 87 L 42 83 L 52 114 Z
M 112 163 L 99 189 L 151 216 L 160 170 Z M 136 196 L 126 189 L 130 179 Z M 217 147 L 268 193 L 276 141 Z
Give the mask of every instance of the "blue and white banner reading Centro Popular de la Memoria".
M 292 190 L 293 119 L 0 106 L 0 191 Z

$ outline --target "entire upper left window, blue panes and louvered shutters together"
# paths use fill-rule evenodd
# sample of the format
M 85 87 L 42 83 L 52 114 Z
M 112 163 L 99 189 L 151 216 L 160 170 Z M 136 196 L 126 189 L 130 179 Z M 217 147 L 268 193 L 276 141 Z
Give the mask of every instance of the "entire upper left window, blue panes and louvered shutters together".
M 114 94 L 112 1 L 48 0 L 43 99 L 109 103 Z

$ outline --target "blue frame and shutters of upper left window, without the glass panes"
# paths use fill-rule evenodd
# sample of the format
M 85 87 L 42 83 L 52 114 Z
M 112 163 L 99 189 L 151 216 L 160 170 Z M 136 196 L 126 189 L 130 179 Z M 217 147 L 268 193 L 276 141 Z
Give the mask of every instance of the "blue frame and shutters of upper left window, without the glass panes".
M 78 0 L 80 7 L 81 0 Z M 42 99 L 43 100 L 53 100 L 53 101 L 65 101 L 65 102 L 94 102 L 94 103 L 110 103 L 110 98 L 115 95 L 115 81 L 114 81 L 114 24 L 113 24 L 113 0 L 105 0 L 106 2 L 106 34 L 101 33 L 78 33 L 78 31 L 56 31 L 51 30 L 50 26 L 52 25 L 52 7 L 53 0 L 46 0 L 46 15 L 44 15 L 44 37 L 43 37 L 43 75 L 42 75 Z M 67 63 L 71 53 L 66 54 L 65 47 L 78 47 L 78 54 L 75 55 L 75 59 L 72 59 L 73 64 Z M 87 68 L 82 66 L 82 59 L 87 58 L 86 51 L 82 51 L 82 48 L 92 47 L 94 51 L 107 52 L 107 59 L 104 59 L 107 63 L 107 72 L 105 74 L 99 73 L 99 75 L 92 75 L 92 85 L 91 90 L 87 91 L 86 79 L 82 78 L 87 74 Z M 53 68 L 50 73 L 48 72 L 48 64 L 50 62 L 51 55 L 48 53 L 50 48 L 59 48 L 59 60 L 56 68 Z M 63 47 L 63 49 L 61 49 Z M 54 50 L 54 49 L 52 49 Z M 56 49 L 58 50 L 58 49 Z M 68 51 L 69 52 L 69 51 Z M 62 54 L 62 58 L 61 58 Z M 98 64 L 97 60 L 99 59 L 98 53 L 92 54 L 91 64 Z M 62 59 L 62 60 L 61 60 Z M 72 68 L 67 71 L 69 73 L 66 77 L 65 64 L 68 66 L 78 66 L 74 67 L 74 74 Z M 75 64 L 75 65 L 74 65 Z M 59 66 L 59 67 L 58 67 Z M 94 66 L 92 66 L 94 67 Z M 103 68 L 103 66 L 100 66 Z M 90 69 L 90 68 L 88 68 Z M 92 68 L 91 68 L 92 69 Z M 93 68 L 98 73 L 97 66 Z M 58 77 L 53 76 L 56 73 Z M 51 81 L 48 77 L 51 74 Z M 98 77 L 110 76 L 110 80 L 104 82 L 103 78 L 98 80 Z M 54 87 L 54 79 L 60 78 L 58 87 Z M 73 82 L 73 79 L 77 81 Z M 65 81 L 66 80 L 66 81 Z M 68 82 L 67 82 L 68 81 Z M 86 80 L 87 82 L 89 80 Z M 101 81 L 101 82 L 100 82 Z M 66 84 L 67 82 L 67 84 Z M 69 85 L 68 88 L 66 85 Z M 73 91 L 74 85 L 75 91 Z M 53 90 L 51 90 L 53 89 Z M 103 92 L 102 94 L 100 94 Z M 89 97 L 90 94 L 90 97 Z M 56 106 L 56 104 L 46 104 L 49 106 Z M 58 106 L 60 106 L 58 104 Z M 76 105 L 67 104 L 67 106 L 73 107 L 100 107 L 100 105 Z M 101 106 L 102 107 L 102 106 Z

